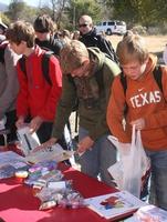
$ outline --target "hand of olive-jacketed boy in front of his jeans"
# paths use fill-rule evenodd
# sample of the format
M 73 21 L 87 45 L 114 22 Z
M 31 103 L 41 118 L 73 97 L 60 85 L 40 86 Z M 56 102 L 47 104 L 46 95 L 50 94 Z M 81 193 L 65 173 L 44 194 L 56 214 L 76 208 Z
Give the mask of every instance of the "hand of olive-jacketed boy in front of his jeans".
M 90 150 L 93 144 L 94 141 L 90 137 L 85 137 L 79 142 L 76 152 L 79 154 L 84 153 L 86 150 Z

